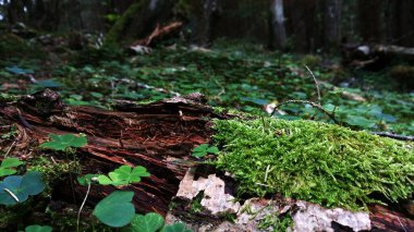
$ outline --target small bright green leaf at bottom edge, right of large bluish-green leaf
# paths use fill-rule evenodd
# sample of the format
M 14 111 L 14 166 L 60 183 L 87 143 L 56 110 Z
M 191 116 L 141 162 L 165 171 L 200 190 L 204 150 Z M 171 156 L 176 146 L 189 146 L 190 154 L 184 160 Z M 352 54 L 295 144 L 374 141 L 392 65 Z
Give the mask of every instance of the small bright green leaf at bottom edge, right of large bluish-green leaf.
M 156 232 L 163 225 L 163 218 L 156 212 L 136 215 L 131 222 L 133 232 Z

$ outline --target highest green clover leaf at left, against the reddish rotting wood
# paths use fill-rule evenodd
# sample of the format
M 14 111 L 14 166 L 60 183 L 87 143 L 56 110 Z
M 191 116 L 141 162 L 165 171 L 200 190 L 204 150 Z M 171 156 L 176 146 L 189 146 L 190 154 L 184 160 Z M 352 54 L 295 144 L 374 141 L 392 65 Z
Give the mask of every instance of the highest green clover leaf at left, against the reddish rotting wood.
M 65 150 L 68 147 L 83 147 L 87 144 L 87 139 L 84 134 L 80 134 L 80 136 L 75 136 L 73 134 L 49 134 L 49 137 L 51 141 L 41 144 L 40 147 L 50 148 L 53 150 Z

